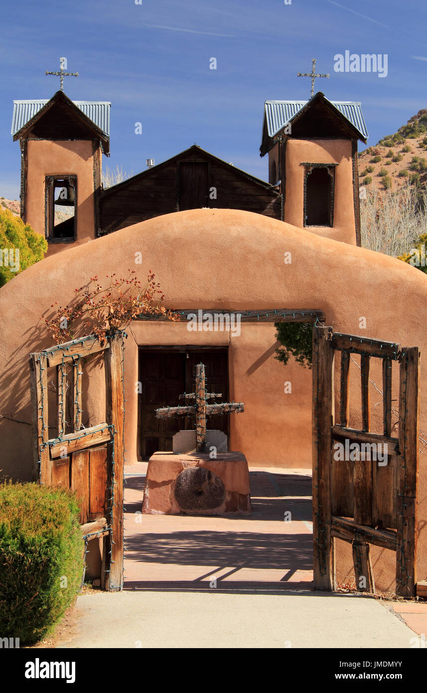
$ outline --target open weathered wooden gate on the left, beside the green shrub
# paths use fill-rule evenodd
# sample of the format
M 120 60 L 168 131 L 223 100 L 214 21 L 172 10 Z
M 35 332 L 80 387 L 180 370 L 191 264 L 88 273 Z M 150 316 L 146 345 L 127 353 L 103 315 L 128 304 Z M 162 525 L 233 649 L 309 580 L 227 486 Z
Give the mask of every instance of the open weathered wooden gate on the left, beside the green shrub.
M 85 545 L 93 538 L 104 538 L 101 586 L 106 590 L 121 589 L 123 584 L 124 337 L 125 333 L 116 331 L 101 346 L 98 337 L 90 335 L 30 354 L 34 468 L 41 484 L 76 491 Z M 105 420 L 84 428 L 83 366 L 87 358 L 102 351 Z M 55 435 L 49 437 L 48 373 L 53 368 L 56 411 L 51 419 L 56 423 Z M 68 417 L 67 401 L 71 405 Z

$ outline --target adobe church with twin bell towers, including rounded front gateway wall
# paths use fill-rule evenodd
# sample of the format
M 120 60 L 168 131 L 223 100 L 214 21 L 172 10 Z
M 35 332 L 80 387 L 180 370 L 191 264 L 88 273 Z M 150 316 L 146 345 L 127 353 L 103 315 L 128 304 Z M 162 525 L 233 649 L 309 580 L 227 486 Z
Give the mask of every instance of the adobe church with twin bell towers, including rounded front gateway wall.
M 252 467 L 311 468 L 312 446 L 316 447 L 320 430 L 313 423 L 318 392 L 309 369 L 293 359 L 286 366 L 275 360 L 278 342 L 273 324 L 285 314 L 299 322 L 319 320 L 338 336 L 366 338 L 364 344 L 369 339 L 390 342 L 394 354 L 400 345 L 427 353 L 419 313 L 427 300 L 425 274 L 360 247 L 356 151 L 358 140 L 365 142 L 367 137 L 360 104 L 333 103 L 320 92 L 307 103 L 266 101 L 260 153 L 269 155 L 268 183 L 193 146 L 103 190 L 109 103 L 73 103 L 61 90 L 46 103 L 16 102 L 12 132 L 21 146 L 22 216 L 45 234 L 49 249 L 44 260 L 0 289 L 3 474 L 19 480 L 34 478 L 32 422 L 38 412 L 31 408 L 28 355 L 52 346 L 39 317 L 55 301 L 68 304 L 75 288 L 95 274 L 100 279 L 112 272 L 126 277 L 131 267 L 145 283 L 151 269 L 161 283 L 167 308 L 183 316 L 180 322 L 136 319 L 127 329 L 123 359 L 127 464 L 147 459 L 155 450 L 171 450 L 181 422 L 156 419 L 154 410 L 176 405 L 181 393 L 192 392 L 192 367 L 202 361 L 209 392 L 221 392 L 227 402 L 244 402 L 244 414 L 222 414 L 222 419 L 212 417 L 208 422 L 226 432 L 229 450 L 240 450 Z M 135 263 L 136 254 L 143 258 L 141 264 Z M 227 329 L 189 331 L 186 317 L 199 310 L 242 315 L 241 331 L 238 335 Z M 84 428 L 105 421 L 105 374 L 96 358 L 84 364 Z M 352 355 L 347 371 L 337 367 L 331 392 L 338 412 L 338 403 L 344 401 L 340 380 L 347 378 L 351 396 L 341 414 L 349 428 L 365 435 L 361 366 L 356 358 L 361 363 L 360 356 Z M 379 367 L 363 371 L 363 392 L 370 380 L 381 392 L 381 358 L 377 361 Z M 427 378 L 426 364 L 421 358 L 420 383 Z M 47 375 L 46 389 L 55 402 L 52 376 Z M 392 396 L 387 377 L 393 401 L 399 393 Z M 399 378 L 392 385 L 399 390 Z M 365 414 L 366 402 L 365 398 Z M 376 402 L 372 394 L 372 428 L 367 430 L 382 434 L 383 411 L 374 406 Z M 52 410 L 55 413 L 55 406 Z M 322 428 L 329 437 L 331 422 L 333 417 L 326 417 Z M 388 426 L 387 422 L 385 416 Z M 48 439 L 57 435 L 55 426 L 54 420 L 48 422 Z M 419 428 L 427 430 L 423 387 Z M 394 450 L 396 445 L 394 440 Z M 55 463 L 57 473 L 60 464 Z M 336 468 L 333 493 L 338 503 L 347 471 L 345 466 Z M 389 471 L 391 466 L 380 472 Z M 381 483 L 389 495 L 394 493 L 393 483 Z M 425 455 L 419 459 L 418 498 L 417 565 L 419 579 L 426 579 Z M 348 510 L 338 514 L 347 517 Z M 372 550 L 376 585 L 393 589 L 396 552 L 381 546 Z M 345 541 L 339 542 L 337 564 L 341 575 L 352 574 L 351 546 Z

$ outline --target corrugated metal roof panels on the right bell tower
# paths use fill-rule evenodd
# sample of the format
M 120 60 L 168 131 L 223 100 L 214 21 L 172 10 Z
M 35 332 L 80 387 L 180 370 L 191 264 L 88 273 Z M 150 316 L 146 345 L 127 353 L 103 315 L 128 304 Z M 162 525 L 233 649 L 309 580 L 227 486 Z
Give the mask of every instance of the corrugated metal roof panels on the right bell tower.
M 274 137 L 306 103 L 308 101 L 266 101 L 265 119 L 269 137 Z M 363 137 L 367 138 L 367 129 L 360 102 L 331 101 L 331 104 L 338 108 L 338 111 L 363 134 Z

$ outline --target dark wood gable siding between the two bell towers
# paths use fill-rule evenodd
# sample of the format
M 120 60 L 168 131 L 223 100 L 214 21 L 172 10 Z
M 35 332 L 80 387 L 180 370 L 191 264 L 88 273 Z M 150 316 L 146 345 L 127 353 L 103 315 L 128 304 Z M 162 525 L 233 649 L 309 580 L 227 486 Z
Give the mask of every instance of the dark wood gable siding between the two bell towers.
M 212 188 L 216 199 L 211 199 L 215 195 L 210 193 Z M 194 209 L 196 202 L 199 207 L 244 209 L 280 219 L 281 201 L 281 196 L 268 186 L 199 147 L 192 147 L 102 191 L 100 227 L 102 234 L 108 234 L 179 209 Z

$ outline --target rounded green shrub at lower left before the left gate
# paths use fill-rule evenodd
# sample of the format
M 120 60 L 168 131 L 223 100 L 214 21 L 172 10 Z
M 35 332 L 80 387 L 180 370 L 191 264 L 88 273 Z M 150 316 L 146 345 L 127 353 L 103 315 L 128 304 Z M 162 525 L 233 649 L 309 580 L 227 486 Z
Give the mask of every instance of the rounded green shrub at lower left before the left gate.
M 75 600 L 84 543 L 75 495 L 0 484 L 0 635 L 36 642 Z

